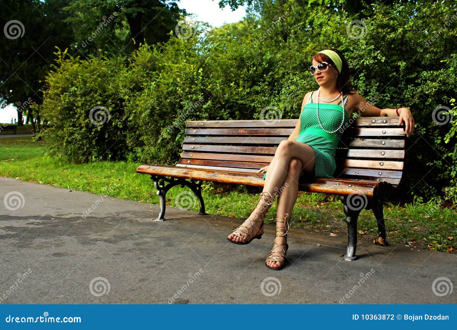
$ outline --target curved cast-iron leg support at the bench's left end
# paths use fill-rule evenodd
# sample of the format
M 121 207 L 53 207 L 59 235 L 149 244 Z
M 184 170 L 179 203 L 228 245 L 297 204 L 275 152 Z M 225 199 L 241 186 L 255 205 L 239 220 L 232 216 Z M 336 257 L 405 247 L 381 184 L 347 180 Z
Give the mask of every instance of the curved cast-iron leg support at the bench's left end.
M 199 215 L 207 215 L 205 212 L 205 203 L 203 201 L 202 197 L 202 181 L 196 182 L 194 179 L 191 179 L 191 181 L 187 181 L 182 178 L 165 178 L 163 176 L 158 176 L 158 175 L 150 175 L 150 178 L 154 181 L 154 187 L 157 189 L 157 194 L 159 195 L 160 199 L 160 213 L 159 216 L 154 219 L 153 221 L 165 221 L 166 219 L 164 218 L 165 216 L 165 196 L 170 190 L 170 188 L 177 186 L 178 184 L 181 186 L 181 188 L 184 188 L 186 185 L 189 187 L 192 192 L 197 196 L 198 202 L 200 204 L 200 210 L 198 212 Z M 165 186 L 165 181 L 168 182 L 168 184 Z

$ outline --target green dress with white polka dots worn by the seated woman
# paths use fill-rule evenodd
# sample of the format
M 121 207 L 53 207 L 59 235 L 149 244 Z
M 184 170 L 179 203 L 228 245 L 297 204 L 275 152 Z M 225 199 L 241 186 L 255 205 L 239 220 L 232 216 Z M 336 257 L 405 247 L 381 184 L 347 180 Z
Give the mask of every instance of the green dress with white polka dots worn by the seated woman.
M 349 121 L 349 114 L 343 108 L 348 95 L 343 100 L 343 106 L 319 102 L 319 119 L 325 130 L 335 131 L 340 127 L 341 120 L 343 120 L 342 116 L 344 115 L 343 126 L 335 133 L 327 133 L 320 127 L 316 115 L 317 103 L 313 102 L 312 96 L 313 93 L 309 96 L 308 102 L 300 115 L 300 134 L 296 141 L 306 143 L 313 148 L 315 178 L 334 178 L 336 146 L 346 127 L 345 124 Z M 309 102 L 310 100 L 311 102 Z M 266 173 L 263 178 L 266 178 Z

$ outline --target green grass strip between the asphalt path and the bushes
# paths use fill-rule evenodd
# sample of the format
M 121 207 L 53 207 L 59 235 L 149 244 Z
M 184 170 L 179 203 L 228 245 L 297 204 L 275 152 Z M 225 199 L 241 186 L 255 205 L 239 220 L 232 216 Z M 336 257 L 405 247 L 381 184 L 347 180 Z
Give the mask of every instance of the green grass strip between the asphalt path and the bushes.
M 149 175 L 135 173 L 142 163 L 93 162 L 69 164 L 59 157 L 49 157 L 46 141 L 32 141 L 31 137 L 0 139 L 0 175 L 25 181 L 77 189 L 95 194 L 133 201 L 159 204 Z M 189 196 L 186 208 L 198 211 L 198 200 L 187 187 L 179 185 L 167 193 L 167 204 L 176 207 L 176 199 Z M 202 195 L 206 212 L 234 217 L 234 227 L 250 215 L 260 189 L 241 185 L 205 182 Z M 276 201 L 265 219 L 274 223 Z M 157 215 L 151 212 L 151 218 Z M 440 208 L 436 201 L 420 204 L 384 204 L 384 217 L 391 244 L 411 245 L 456 253 L 457 211 L 454 207 Z M 303 193 L 298 195 L 293 209 L 292 226 L 302 230 L 346 236 L 345 214 L 335 195 Z M 359 238 L 371 240 L 377 235 L 376 219 L 371 210 L 362 210 L 358 220 Z

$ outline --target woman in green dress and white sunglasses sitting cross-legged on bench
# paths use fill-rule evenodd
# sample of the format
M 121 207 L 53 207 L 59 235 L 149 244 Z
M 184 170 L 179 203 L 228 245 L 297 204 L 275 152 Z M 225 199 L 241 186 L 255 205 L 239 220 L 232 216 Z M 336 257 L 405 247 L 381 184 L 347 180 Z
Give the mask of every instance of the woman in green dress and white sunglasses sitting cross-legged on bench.
M 304 174 L 334 177 L 336 146 L 354 111 L 364 117 L 398 115 L 398 125 L 405 122 L 406 136 L 414 131 L 414 118 L 408 108 L 379 109 L 351 91 L 349 66 L 338 50 L 318 52 L 313 56 L 312 64 L 310 73 L 319 89 L 305 95 L 294 131 L 287 140 L 281 141 L 270 165 L 258 171 L 265 172 L 265 185 L 255 210 L 227 237 L 235 244 L 248 244 L 254 238 L 260 239 L 263 219 L 277 196 L 276 237 L 266 258 L 266 267 L 274 270 L 284 267 L 287 232 L 298 196 L 299 177 Z

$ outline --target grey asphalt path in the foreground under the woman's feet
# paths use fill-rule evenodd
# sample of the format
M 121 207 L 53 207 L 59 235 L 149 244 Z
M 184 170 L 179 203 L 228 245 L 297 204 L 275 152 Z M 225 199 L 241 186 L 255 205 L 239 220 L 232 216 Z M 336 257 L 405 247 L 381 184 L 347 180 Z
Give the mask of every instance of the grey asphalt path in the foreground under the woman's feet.
M 265 267 L 272 225 L 261 240 L 239 246 L 225 240 L 239 219 L 169 207 L 169 220 L 153 222 L 159 212 L 154 204 L 11 178 L 0 178 L 0 187 L 1 199 L 23 195 L 14 193 L 23 206 L 18 210 L 0 203 L 3 304 L 457 301 L 455 288 L 443 297 L 432 290 L 440 277 L 457 284 L 457 257 L 451 254 L 364 240 L 360 259 L 348 262 L 339 257 L 346 237 L 292 229 L 287 267 L 273 271 Z

